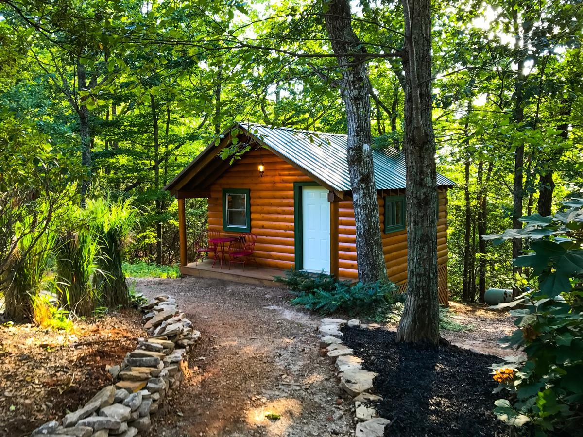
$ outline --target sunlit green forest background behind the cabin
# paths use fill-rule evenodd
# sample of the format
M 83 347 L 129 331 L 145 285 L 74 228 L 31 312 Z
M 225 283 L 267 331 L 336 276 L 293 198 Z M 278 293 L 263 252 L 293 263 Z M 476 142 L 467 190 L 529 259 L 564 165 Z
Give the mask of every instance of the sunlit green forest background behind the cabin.
M 163 186 L 234 121 L 346 133 L 323 5 L 2 0 L 0 192 L 11 194 L 0 202 L 2 234 L 50 227 L 87 199 L 131 198 L 142 216 L 127 257 L 177 262 L 177 203 Z M 352 8 L 375 55 L 374 146 L 399 149 L 403 76 L 389 54 L 401 50 L 401 3 Z M 513 248 L 480 235 L 583 195 L 582 6 L 433 8 L 438 171 L 457 184 L 449 287 L 477 301 L 486 288 L 525 283 Z M 205 202 L 187 201 L 189 242 L 206 223 Z M 41 220 L 23 224 L 31 216 Z

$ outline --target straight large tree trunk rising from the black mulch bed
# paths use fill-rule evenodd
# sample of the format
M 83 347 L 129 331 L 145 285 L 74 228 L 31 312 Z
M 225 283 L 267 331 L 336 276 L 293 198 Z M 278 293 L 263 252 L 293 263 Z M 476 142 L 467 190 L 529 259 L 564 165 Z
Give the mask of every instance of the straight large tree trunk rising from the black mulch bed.
M 402 0 L 405 17 L 407 301 L 398 341 L 437 345 L 436 147 L 431 114 L 431 0 Z

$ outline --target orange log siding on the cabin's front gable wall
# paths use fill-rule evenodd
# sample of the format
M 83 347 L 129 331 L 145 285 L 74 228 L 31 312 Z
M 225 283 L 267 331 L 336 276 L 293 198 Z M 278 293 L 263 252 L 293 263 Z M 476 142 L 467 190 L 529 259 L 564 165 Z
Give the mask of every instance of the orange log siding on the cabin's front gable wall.
M 290 269 L 294 266 L 294 182 L 311 179 L 268 150 L 262 150 L 263 177 L 257 166 L 258 150 L 248 151 L 222 177 L 210 185 L 209 228 L 223 230 L 223 188 L 248 188 L 251 201 L 251 232 L 257 234 L 254 258 L 259 266 Z

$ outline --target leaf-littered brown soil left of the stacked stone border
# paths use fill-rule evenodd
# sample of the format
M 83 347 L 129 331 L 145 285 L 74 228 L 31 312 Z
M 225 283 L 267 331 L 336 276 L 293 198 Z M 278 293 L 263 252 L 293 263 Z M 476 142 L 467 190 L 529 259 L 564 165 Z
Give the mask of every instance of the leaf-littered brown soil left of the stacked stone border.
M 0 436 L 17 437 L 76 410 L 111 383 L 106 365 L 133 350 L 141 315 L 78 320 L 71 330 L 0 326 Z

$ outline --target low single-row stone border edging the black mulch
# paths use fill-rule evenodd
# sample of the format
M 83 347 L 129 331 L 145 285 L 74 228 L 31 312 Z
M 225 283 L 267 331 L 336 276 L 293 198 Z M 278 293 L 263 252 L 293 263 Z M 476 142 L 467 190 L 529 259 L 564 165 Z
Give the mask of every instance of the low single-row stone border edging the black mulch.
M 342 341 L 343 334 L 340 327 L 361 327 L 376 329 L 381 327 L 376 323 L 364 325 L 360 320 L 322 319 L 319 326 L 320 347 L 322 354 L 327 355 L 335 362 L 338 369 L 339 386 L 346 394 L 353 397 L 356 425 L 356 437 L 382 437 L 389 420 L 378 417 L 374 404 L 382 400 L 381 396 L 371 393 L 373 380 L 378 373 L 368 372 L 361 366 L 363 360 L 353 355 L 353 350 Z

